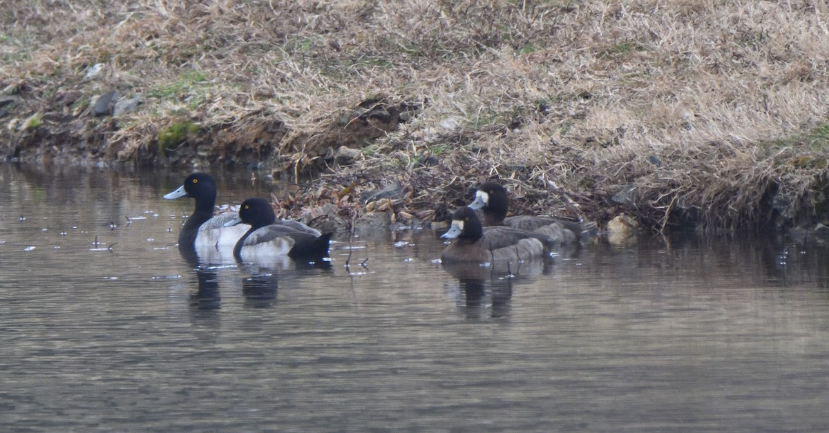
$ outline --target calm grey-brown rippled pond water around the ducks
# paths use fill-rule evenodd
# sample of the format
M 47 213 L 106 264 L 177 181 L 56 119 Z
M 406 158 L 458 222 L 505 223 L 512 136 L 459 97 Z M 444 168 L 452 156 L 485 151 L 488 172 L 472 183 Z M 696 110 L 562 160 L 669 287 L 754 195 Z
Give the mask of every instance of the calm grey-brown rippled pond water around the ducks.
M 446 270 L 415 231 L 196 269 L 175 247 L 192 202 L 161 199 L 182 178 L 0 166 L 4 430 L 829 427 L 817 243 L 599 243 L 511 276 Z

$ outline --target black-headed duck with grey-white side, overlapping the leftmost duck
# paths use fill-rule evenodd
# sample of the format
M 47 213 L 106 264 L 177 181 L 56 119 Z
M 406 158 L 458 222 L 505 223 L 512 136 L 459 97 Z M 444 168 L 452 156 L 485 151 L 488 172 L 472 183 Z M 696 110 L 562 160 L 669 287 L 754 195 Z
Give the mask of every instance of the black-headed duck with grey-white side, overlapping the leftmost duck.
M 298 221 L 285 222 L 288 221 L 276 221 L 274 208 L 264 198 L 246 199 L 235 219 L 225 223 L 227 227 L 250 226 L 233 248 L 235 259 L 243 261 L 243 252 L 256 258 L 288 255 L 291 259 L 319 259 L 328 255 L 332 233 L 320 234 L 310 227 L 303 228 Z

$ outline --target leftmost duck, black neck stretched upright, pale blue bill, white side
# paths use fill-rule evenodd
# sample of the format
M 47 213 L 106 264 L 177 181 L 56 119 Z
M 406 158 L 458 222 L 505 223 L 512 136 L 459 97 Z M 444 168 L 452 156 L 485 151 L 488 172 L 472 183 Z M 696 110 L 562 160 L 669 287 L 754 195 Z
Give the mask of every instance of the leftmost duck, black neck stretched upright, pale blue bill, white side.
M 214 216 L 216 182 L 210 174 L 192 173 L 184 179 L 181 187 L 164 196 L 168 200 L 179 197 L 196 199 L 193 214 L 187 218 L 182 231 L 178 234 L 180 250 L 230 249 L 249 228 L 248 226 L 225 227 L 225 223 L 235 219 L 235 212 L 224 212 Z

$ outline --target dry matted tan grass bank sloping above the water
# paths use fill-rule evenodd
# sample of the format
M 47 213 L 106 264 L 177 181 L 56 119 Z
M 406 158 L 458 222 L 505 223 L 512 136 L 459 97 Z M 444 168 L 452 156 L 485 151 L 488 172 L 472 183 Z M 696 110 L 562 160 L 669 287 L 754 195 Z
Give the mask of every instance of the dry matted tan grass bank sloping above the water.
M 7 3 L 7 158 L 260 162 L 315 178 L 284 215 L 349 221 L 395 181 L 405 220 L 491 177 L 600 223 L 829 220 L 822 2 Z M 108 90 L 143 104 L 93 116 Z

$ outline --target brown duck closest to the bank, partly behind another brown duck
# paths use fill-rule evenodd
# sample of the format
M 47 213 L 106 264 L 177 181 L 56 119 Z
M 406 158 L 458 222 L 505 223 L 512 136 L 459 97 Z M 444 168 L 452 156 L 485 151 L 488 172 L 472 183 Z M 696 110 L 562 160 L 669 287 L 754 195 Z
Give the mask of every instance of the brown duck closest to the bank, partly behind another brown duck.
M 581 236 L 595 231 L 594 223 L 584 226 L 576 221 L 560 220 L 550 216 L 507 216 L 509 198 L 507 188 L 494 181 L 483 182 L 475 191 L 475 200 L 468 207 L 483 211 L 483 226 L 507 226 L 550 236 L 560 245 L 578 243 Z

